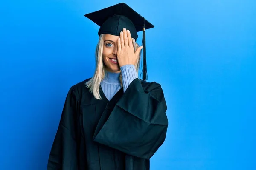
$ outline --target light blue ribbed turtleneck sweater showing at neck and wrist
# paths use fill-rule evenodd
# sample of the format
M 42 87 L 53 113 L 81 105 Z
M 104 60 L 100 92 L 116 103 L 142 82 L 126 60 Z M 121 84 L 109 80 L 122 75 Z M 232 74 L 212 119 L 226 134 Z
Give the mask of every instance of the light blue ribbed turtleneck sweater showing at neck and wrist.
M 124 65 L 120 67 L 120 69 L 122 72 L 123 90 L 125 92 L 125 90 L 128 88 L 128 85 L 134 79 L 138 78 L 138 75 L 133 64 Z M 102 91 L 108 100 L 110 100 L 121 88 L 121 83 L 119 81 L 120 73 L 112 73 L 107 71 L 104 79 L 100 83 L 102 86 Z

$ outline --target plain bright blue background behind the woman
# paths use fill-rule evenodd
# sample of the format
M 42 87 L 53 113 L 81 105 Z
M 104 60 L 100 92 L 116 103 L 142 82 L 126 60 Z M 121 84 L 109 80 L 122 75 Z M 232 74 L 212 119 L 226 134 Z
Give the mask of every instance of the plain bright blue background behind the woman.
M 1 170 L 46 169 L 67 91 L 95 68 L 99 26 L 83 15 L 119 2 L 0 2 Z M 151 170 L 255 170 L 256 1 L 124 2 L 155 26 L 148 81 L 168 105 Z

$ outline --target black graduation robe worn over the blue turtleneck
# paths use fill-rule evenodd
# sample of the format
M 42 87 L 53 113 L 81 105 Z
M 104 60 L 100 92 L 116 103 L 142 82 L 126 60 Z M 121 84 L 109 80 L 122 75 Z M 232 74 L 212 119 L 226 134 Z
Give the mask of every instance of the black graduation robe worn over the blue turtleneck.
M 47 170 L 149 170 L 168 126 L 161 85 L 134 79 L 108 101 L 73 85 L 64 104 Z

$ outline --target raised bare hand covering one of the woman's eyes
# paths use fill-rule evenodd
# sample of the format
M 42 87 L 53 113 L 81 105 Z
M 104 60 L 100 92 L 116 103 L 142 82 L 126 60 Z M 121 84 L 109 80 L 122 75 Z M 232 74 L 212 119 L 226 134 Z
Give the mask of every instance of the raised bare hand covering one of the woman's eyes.
M 131 32 L 123 28 L 123 31 L 120 32 L 120 38 L 117 40 L 117 61 L 119 67 L 127 64 L 136 64 L 136 61 L 139 57 L 140 50 L 143 47 L 140 46 L 134 52 L 134 47 L 131 39 Z

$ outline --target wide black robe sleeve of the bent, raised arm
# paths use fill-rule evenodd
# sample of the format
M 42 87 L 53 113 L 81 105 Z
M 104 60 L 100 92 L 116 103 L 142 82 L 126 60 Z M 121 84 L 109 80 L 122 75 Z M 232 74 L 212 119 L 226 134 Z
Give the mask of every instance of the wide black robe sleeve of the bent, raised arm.
M 93 140 L 126 154 L 150 159 L 166 138 L 166 110 L 161 85 L 152 82 L 144 90 L 136 78 L 108 119 L 96 128 Z

